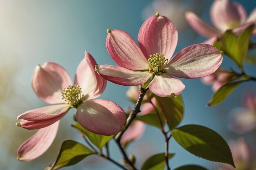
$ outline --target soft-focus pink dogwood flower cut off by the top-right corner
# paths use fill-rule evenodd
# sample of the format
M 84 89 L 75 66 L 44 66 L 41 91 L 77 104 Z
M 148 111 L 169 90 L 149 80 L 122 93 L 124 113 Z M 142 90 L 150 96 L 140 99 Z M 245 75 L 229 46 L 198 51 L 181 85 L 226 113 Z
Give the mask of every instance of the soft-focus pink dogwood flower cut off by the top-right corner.
M 190 26 L 200 35 L 210 38 L 205 42 L 207 44 L 213 44 L 227 30 L 233 30 L 236 35 L 239 35 L 256 22 L 256 8 L 247 17 L 247 12 L 240 3 L 215 0 L 211 5 L 210 16 L 215 28 L 204 22 L 195 13 L 186 12 L 186 20 Z M 256 29 L 253 34 L 256 34 Z

